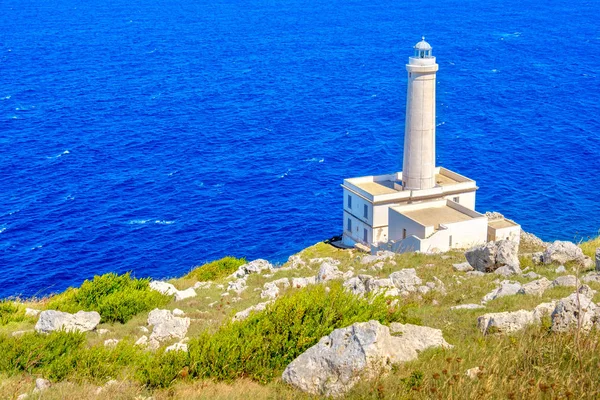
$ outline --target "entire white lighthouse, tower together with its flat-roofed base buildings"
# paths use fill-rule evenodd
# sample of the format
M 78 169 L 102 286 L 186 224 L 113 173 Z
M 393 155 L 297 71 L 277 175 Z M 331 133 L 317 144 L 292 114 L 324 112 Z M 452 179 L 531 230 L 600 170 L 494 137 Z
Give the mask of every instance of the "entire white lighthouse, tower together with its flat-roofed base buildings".
M 409 57 L 403 172 L 345 179 L 345 245 L 447 251 L 512 237 L 520 226 L 475 211 L 475 181 L 435 165 L 438 64 L 423 39 Z

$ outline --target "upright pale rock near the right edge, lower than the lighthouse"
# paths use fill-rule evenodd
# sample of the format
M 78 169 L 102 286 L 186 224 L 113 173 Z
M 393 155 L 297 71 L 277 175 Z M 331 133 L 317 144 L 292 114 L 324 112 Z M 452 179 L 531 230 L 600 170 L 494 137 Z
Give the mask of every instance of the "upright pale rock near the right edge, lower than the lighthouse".
M 559 300 L 552 312 L 552 330 L 566 332 L 581 327 L 588 331 L 596 319 L 596 304 L 592 302 L 589 286 L 583 285 L 575 293 Z

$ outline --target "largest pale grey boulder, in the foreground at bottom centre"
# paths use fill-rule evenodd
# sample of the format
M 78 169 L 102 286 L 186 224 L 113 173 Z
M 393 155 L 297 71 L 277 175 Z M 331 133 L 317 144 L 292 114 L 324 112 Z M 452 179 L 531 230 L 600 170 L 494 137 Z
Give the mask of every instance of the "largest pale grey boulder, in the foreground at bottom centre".
M 390 328 L 377 321 L 336 329 L 292 361 L 282 379 L 314 395 L 341 396 L 361 377 L 371 378 L 391 364 L 413 360 L 441 337 L 441 331 L 423 327 L 398 324 L 394 329 L 402 335 L 392 336 Z

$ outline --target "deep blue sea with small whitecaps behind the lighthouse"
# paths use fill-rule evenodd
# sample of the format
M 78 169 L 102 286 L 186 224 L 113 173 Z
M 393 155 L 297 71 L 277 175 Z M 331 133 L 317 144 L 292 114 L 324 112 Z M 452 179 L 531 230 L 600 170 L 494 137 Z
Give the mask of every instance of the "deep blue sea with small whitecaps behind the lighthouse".
M 0 297 L 283 262 L 400 170 L 412 46 L 437 162 L 545 240 L 600 228 L 600 2 L 0 2 Z

